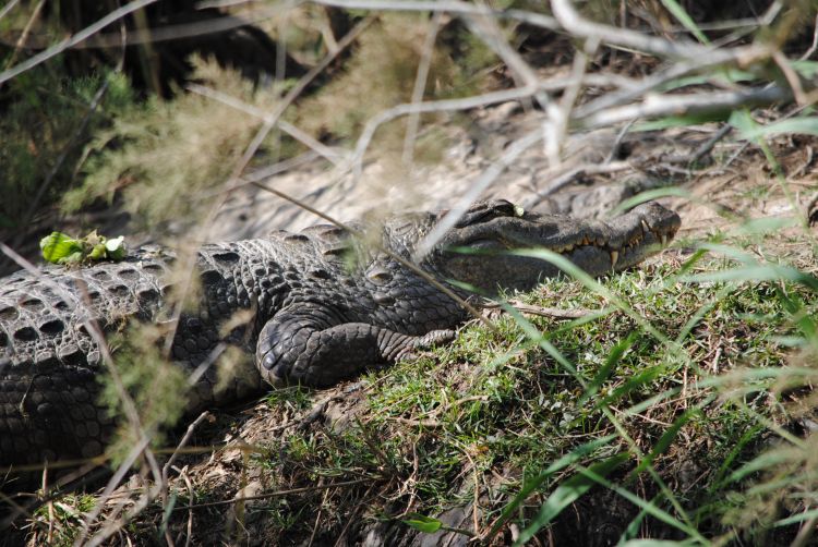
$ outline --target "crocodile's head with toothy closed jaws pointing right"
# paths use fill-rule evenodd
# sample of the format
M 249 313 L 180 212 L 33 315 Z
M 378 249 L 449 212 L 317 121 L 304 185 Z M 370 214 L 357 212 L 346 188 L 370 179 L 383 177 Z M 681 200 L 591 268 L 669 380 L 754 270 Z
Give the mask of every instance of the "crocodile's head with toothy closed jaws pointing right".
M 506 200 L 481 202 L 446 233 L 425 267 L 488 292 L 498 287 L 528 290 L 560 270 L 545 260 L 509 251 L 548 248 L 591 276 L 602 276 L 655 254 L 673 239 L 679 224 L 678 215 L 657 203 L 642 204 L 603 222 L 522 212 Z

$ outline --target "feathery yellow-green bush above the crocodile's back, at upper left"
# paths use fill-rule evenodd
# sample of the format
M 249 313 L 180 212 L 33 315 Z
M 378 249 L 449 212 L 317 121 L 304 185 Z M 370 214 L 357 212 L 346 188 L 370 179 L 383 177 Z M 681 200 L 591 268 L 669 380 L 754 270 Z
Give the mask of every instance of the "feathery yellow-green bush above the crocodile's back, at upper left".
M 276 96 L 234 71 L 197 61 L 196 77 L 255 108 L 269 110 Z M 147 226 L 188 223 L 213 205 L 261 120 L 196 94 L 175 101 L 151 99 L 118 117 L 86 148 L 83 185 L 67 193 L 67 210 L 119 195 Z M 182 196 L 188 196 L 182 197 Z M 176 227 L 179 230 L 179 227 Z M 176 231 L 175 230 L 175 231 Z

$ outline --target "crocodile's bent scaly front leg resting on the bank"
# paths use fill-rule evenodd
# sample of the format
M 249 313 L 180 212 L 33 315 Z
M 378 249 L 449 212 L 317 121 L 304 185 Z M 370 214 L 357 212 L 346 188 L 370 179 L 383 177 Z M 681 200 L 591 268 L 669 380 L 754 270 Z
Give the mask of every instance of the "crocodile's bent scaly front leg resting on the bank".
M 454 330 L 410 336 L 366 323 L 344 323 L 321 305 L 300 304 L 267 321 L 255 358 L 262 377 L 274 386 L 289 381 L 327 387 L 454 338 Z

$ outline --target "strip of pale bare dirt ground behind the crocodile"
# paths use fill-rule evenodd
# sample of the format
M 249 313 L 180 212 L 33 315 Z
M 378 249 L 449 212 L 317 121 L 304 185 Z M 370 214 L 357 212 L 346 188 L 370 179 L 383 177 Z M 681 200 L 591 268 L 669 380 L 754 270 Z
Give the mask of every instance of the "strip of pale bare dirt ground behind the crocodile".
M 445 160 L 413 173 L 392 173 L 380 162 L 364 166 L 358 180 L 321 161 L 263 180 L 263 184 L 293 196 L 320 211 L 346 221 L 368 215 L 442 209 L 456 204 L 503 156 L 503 150 L 541 123 L 542 114 L 517 102 L 477 112 L 472 126 L 448 130 L 455 143 Z M 720 159 L 688 170 L 684 158 L 718 131 L 708 124 L 694 129 L 631 133 L 618 137 L 600 130 L 573 134 L 563 162 L 550 166 L 540 146 L 522 154 L 478 195 L 505 198 L 527 209 L 604 218 L 624 199 L 639 192 L 678 185 L 689 197 L 662 198 L 683 217 L 682 233 L 701 234 L 726 226 L 736 217 L 792 216 L 806 210 L 818 192 L 814 157 L 816 139 L 790 136 L 775 142 L 793 193 L 775 183 L 763 154 L 730 135 L 717 144 Z M 726 159 L 722 159 L 726 158 Z M 340 174 L 339 174 L 340 172 Z M 772 191 L 758 199 L 759 189 Z M 213 240 L 253 238 L 270 230 L 300 230 L 324 222 L 308 210 L 254 186 L 237 192 L 212 228 Z

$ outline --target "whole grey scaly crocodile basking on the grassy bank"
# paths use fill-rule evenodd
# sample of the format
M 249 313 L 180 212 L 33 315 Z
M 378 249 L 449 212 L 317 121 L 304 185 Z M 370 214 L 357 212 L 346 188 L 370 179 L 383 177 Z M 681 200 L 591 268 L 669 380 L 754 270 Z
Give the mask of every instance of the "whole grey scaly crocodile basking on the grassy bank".
M 479 202 L 418 272 L 408 263 L 443 214 L 392 217 L 364 239 L 356 234 L 365 224 L 318 226 L 205 244 L 193 258 L 194 302 L 176 315 L 169 294 L 181 257 L 156 247 L 121 262 L 45 266 L 0 280 L 0 466 L 105 450 L 115 424 L 99 401 L 107 363 L 100 333 L 131 319 L 178 318 L 169 356 L 196 375 L 187 396 L 188 410 L 199 412 L 246 399 L 265 382 L 330 386 L 449 341 L 469 318 L 453 293 L 473 302 L 477 293 L 530 290 L 560 272 L 509 251 L 544 247 L 602 276 L 638 264 L 679 227 L 678 216 L 657 203 L 602 222 Z M 212 362 L 226 347 L 249 357 L 217 387 Z

